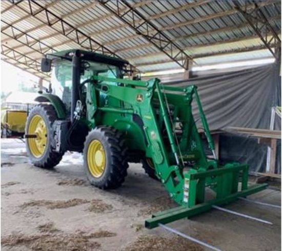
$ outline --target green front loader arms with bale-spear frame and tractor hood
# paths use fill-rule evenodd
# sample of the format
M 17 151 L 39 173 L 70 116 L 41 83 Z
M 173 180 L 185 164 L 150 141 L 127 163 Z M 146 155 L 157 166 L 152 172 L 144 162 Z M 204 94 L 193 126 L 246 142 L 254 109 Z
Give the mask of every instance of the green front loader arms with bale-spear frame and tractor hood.
M 210 210 L 212 205 L 229 203 L 238 197 L 265 189 L 266 184 L 248 187 L 248 165 L 228 163 L 218 166 L 216 159 L 207 159 L 192 115 L 193 96 L 212 151 L 214 143 L 196 86 L 163 86 L 157 78 L 145 82 L 92 76 L 89 88 L 89 127 L 99 126 L 101 121 L 103 124 L 115 126 L 114 121 L 118 119 L 114 114 L 123 115 L 125 120 L 130 120 L 134 114 L 142 118 L 143 130 L 136 130 L 132 137 L 134 134 L 140 134 L 139 140 L 145 137 L 144 142 L 139 145 L 143 147 L 146 156 L 152 158 L 155 174 L 166 187 L 170 197 L 180 205 L 172 210 L 154 214 L 152 219 L 145 222 L 147 228 L 157 227 L 158 223 L 191 217 Z M 97 96 L 101 95 L 105 95 L 107 101 L 97 100 Z M 158 114 L 154 101 L 158 103 Z M 174 114 L 170 114 L 171 105 L 174 106 Z M 101 116 L 104 118 L 101 119 Z M 179 138 L 175 134 L 177 121 L 183 124 L 183 133 Z M 128 123 L 130 125 L 131 122 Z M 163 135 L 161 124 L 165 126 L 166 135 Z M 130 133 L 126 128 L 130 126 L 118 130 Z M 168 138 L 169 147 L 164 143 L 165 136 Z M 134 148 L 134 145 L 129 143 L 128 147 Z M 189 168 L 184 165 L 184 161 L 192 163 Z M 205 202 L 206 187 L 215 193 L 215 198 L 209 202 Z

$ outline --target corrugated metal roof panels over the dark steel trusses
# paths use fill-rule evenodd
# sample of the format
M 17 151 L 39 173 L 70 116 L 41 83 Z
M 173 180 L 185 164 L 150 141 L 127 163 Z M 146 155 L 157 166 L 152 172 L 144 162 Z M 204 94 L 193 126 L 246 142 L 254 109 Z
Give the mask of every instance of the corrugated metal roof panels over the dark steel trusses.
M 37 18 L 30 15 L 29 0 L 19 1 L 17 6 L 8 1 L 1 2 L 1 19 L 5 22 L 1 24 L 4 29 L 2 42 L 5 45 L 39 60 L 42 56 L 40 53 L 23 45 L 25 43 L 24 36 L 9 37 L 14 34 L 12 34 L 12 30 L 5 30 L 6 23 L 28 33 L 55 50 L 82 48 L 82 45 L 76 41 L 76 33 L 71 32 L 75 28 L 105 45 L 107 49 L 117 53 L 120 57 L 128 59 L 139 70 L 180 68 L 175 61 L 152 45 L 145 37 L 136 34 L 134 29 L 96 1 L 37 2 L 51 12 L 48 16 L 50 25 L 46 24 L 45 11 L 38 12 Z M 252 5 L 249 0 L 237 2 L 240 5 Z M 128 3 L 169 37 L 173 43 L 177 44 L 180 49 L 195 58 L 194 62 L 199 65 L 213 64 L 216 60 L 233 61 L 238 58 L 250 59 L 271 56 L 269 51 L 254 50 L 256 48 L 265 49 L 263 41 L 258 38 L 246 18 L 235 9 L 232 0 L 145 0 L 143 2 L 132 0 Z M 256 3 L 260 5 L 261 12 L 269 20 L 275 32 L 280 34 L 281 2 L 272 0 L 268 2 L 256 1 Z M 108 4 L 114 6 L 115 1 Z M 127 8 L 121 2 L 119 4 L 123 6 L 121 12 L 125 13 Z M 35 13 L 37 10 L 41 10 L 39 6 L 33 8 Z M 62 23 L 57 22 L 57 17 L 67 22 L 68 25 L 65 27 L 67 35 L 62 34 Z M 140 24 L 138 19 L 135 22 Z M 251 52 L 230 54 L 231 52 L 248 50 Z M 211 54 L 216 56 L 209 56 Z M 204 58 L 202 58 L 203 56 Z M 5 55 L 3 55 L 3 59 L 5 59 Z M 163 64 L 156 64 L 157 62 L 163 62 Z

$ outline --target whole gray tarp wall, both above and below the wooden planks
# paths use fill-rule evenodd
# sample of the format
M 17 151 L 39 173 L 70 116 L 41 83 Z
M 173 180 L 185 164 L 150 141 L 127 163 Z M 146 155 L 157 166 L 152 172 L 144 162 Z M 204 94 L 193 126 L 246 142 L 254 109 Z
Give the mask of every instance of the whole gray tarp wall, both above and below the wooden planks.
M 226 127 L 269 129 L 271 108 L 281 104 L 279 66 L 265 65 L 243 71 L 214 74 L 189 80 L 166 82 L 165 85 L 196 85 L 211 130 Z M 195 106 L 193 106 L 195 107 Z M 197 119 L 197 110 L 193 113 Z M 281 122 L 276 119 L 276 130 Z M 277 166 L 280 173 L 280 147 L 277 146 Z M 220 136 L 220 159 L 250 164 L 251 171 L 265 171 L 266 145 L 257 139 L 225 133 Z

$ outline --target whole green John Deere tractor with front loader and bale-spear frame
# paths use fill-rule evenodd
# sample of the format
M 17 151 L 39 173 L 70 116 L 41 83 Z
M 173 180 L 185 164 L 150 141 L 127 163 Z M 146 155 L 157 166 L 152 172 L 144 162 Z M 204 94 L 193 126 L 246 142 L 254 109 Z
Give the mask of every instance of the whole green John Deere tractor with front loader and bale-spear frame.
M 52 93 L 40 102 L 26 123 L 27 153 L 40 168 L 53 168 L 66 151 L 83 152 L 91 184 L 116 189 L 125 181 L 129 162 L 164 184 L 180 206 L 146 221 L 158 223 L 190 217 L 263 190 L 248 187 L 248 166 L 220 166 L 200 104 L 197 87 L 164 86 L 159 79 L 124 77 L 128 62 L 82 50 L 48 54 L 42 71 L 52 68 Z M 208 159 L 192 114 L 192 100 L 214 158 Z M 215 196 L 207 202 L 205 189 Z

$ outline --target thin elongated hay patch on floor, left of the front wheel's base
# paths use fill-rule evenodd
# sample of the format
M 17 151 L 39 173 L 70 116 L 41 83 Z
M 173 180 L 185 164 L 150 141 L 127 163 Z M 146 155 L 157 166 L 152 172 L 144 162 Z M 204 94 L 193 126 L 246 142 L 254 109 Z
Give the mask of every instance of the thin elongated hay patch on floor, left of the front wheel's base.
M 45 206 L 49 209 L 67 208 L 71 206 L 88 203 L 89 200 L 70 199 L 70 200 L 31 200 L 25 202 L 21 207 L 26 208 L 30 206 Z

